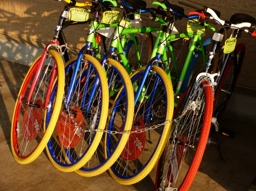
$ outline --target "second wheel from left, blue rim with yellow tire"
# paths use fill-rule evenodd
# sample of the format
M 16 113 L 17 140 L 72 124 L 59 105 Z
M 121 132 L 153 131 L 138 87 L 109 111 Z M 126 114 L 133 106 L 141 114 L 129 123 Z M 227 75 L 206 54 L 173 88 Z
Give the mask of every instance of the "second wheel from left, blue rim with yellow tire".
M 79 73 L 75 77 L 72 87 L 70 70 L 76 61 L 67 63 L 65 67 L 65 90 L 62 109 L 55 125 L 51 139 L 47 143 L 46 151 L 52 164 L 61 171 L 70 172 L 82 167 L 90 160 L 103 135 L 108 111 L 108 90 L 106 74 L 100 63 L 86 54 L 86 62 L 80 63 Z M 72 80 L 71 80 L 72 81 Z M 91 89 L 97 83 L 95 93 Z M 48 116 L 51 115 L 51 103 L 55 99 L 56 85 L 52 89 L 52 96 L 45 115 L 47 129 Z M 70 101 L 67 101 L 68 90 L 71 91 Z M 90 99 L 92 98 L 92 99 Z

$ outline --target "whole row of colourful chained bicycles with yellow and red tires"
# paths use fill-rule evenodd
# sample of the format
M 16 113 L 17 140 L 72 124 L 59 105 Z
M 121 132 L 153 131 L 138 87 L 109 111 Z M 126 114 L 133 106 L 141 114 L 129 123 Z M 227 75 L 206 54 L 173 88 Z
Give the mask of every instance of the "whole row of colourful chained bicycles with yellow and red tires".
M 236 41 L 256 36 L 255 18 L 236 13 L 224 21 L 189 0 L 179 0 L 195 9 L 188 15 L 167 0 L 156 8 L 143 0 L 61 2 L 54 37 L 16 101 L 16 161 L 30 163 L 45 148 L 61 171 L 108 170 L 121 184 L 139 182 L 157 165 L 156 191 L 188 190 L 241 70 L 245 45 Z M 142 16 L 158 27 L 143 27 Z M 180 20 L 185 33 L 175 28 Z M 90 28 L 72 57 L 63 30 L 78 24 Z M 203 41 L 206 28 L 211 37 Z

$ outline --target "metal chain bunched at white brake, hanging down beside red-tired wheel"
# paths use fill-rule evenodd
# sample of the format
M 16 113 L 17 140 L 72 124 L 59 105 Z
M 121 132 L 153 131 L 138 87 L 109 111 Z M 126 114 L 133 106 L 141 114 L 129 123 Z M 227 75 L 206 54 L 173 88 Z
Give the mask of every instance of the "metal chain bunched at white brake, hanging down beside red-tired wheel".
M 203 86 L 200 87 L 202 81 L 208 81 L 208 84 L 204 84 Z M 168 170 L 169 170 L 169 167 L 170 167 L 170 164 L 171 164 L 171 158 L 172 158 L 172 155 L 175 154 L 174 152 L 174 148 L 175 148 L 175 139 L 177 137 L 177 130 L 178 130 L 178 126 L 179 126 L 179 121 L 180 119 L 189 111 L 189 110 L 192 110 L 192 109 L 200 109 L 201 107 L 201 104 L 203 102 L 203 100 L 201 99 L 201 95 L 203 93 L 203 89 L 205 86 L 211 86 L 212 89 L 214 90 L 214 86 L 216 85 L 216 83 L 212 82 L 211 78 L 209 76 L 201 76 L 200 79 L 196 82 L 195 86 L 194 86 L 194 92 L 193 94 L 191 95 L 190 99 L 189 99 L 189 102 L 185 108 L 185 110 L 182 112 L 181 115 L 179 115 L 179 117 L 175 120 L 176 124 L 175 124 L 175 129 L 174 129 L 174 133 L 173 133 L 173 139 L 171 141 L 171 145 L 172 145 L 172 148 L 171 150 L 169 151 L 170 152 L 170 155 L 169 155 L 169 158 L 168 158 L 168 163 L 167 163 L 167 167 L 165 169 L 165 173 L 163 174 L 163 177 L 162 177 L 162 181 L 161 181 L 161 184 L 160 184 L 160 187 L 158 188 L 157 191 L 163 191 L 164 190 L 164 186 L 165 186 L 165 183 L 166 183 L 166 178 L 167 178 L 167 175 L 168 175 Z M 195 99 L 196 98 L 196 99 Z M 169 138 L 170 138 L 171 135 L 169 135 Z M 168 187 L 170 186 L 170 183 L 168 185 Z M 177 190 L 177 188 L 173 188 L 173 190 Z

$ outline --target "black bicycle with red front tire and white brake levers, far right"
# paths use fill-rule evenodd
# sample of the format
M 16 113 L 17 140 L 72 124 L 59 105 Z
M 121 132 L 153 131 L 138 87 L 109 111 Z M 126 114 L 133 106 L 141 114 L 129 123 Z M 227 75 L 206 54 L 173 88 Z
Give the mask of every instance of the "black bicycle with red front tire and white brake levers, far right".
M 222 41 L 222 38 L 223 38 L 223 34 L 222 34 L 224 32 L 223 28 L 228 27 L 228 28 L 234 29 L 235 31 L 237 30 L 237 32 L 233 34 L 234 37 L 238 37 L 239 36 L 238 34 L 241 34 L 242 31 L 245 31 L 251 34 L 252 36 L 255 36 L 256 21 L 254 18 L 252 19 L 251 16 L 248 16 L 248 15 L 245 16 L 244 14 L 241 14 L 241 13 L 238 13 L 232 16 L 231 17 L 232 22 L 223 21 L 219 19 L 219 17 L 214 13 L 213 10 L 211 10 L 206 6 L 202 6 L 200 4 L 197 4 L 188 0 L 180 0 L 179 3 L 184 4 L 185 6 L 200 10 L 199 12 L 202 11 L 205 17 L 208 17 L 206 16 L 207 15 L 206 13 L 209 13 L 210 16 L 208 18 L 217 21 L 223 26 L 222 30 L 218 31 L 218 33 L 216 31 L 213 34 L 212 52 L 210 52 L 209 54 L 210 56 L 208 58 L 208 61 L 206 62 L 206 66 L 204 69 L 205 72 L 203 71 L 203 73 L 200 74 L 201 77 L 206 76 L 206 77 L 203 77 L 202 82 L 205 82 L 205 80 L 212 82 L 212 85 L 214 85 L 214 90 L 215 90 L 214 92 L 218 92 L 220 91 L 220 87 L 223 84 L 222 83 L 223 79 L 226 78 L 225 75 L 227 74 L 227 71 L 230 69 L 229 60 L 231 60 L 230 62 L 233 61 L 232 59 L 230 59 L 232 58 L 230 57 L 231 52 L 227 53 L 224 57 L 224 62 L 220 67 L 219 76 L 217 75 L 218 78 L 215 82 L 214 76 L 212 76 L 211 74 L 213 69 L 213 67 L 211 68 L 211 64 L 213 65 L 213 62 L 216 61 L 214 60 L 214 54 L 222 49 L 222 46 L 220 46 L 220 42 Z M 202 14 L 199 12 L 198 14 Z M 244 16 L 239 20 L 238 18 L 241 17 L 241 15 L 244 15 Z M 244 27 L 248 29 L 243 29 Z M 242 47 L 242 46 L 239 45 L 238 47 Z M 205 107 L 204 105 L 207 106 L 209 105 L 209 103 L 211 103 L 209 107 L 211 107 L 210 109 L 211 111 L 213 110 L 213 96 L 212 96 L 213 93 L 210 86 L 202 86 L 201 88 L 197 89 L 196 88 L 196 86 L 198 86 L 197 80 L 198 80 L 198 76 L 197 76 L 196 82 L 193 83 L 194 85 L 190 88 L 190 90 L 187 90 L 188 92 L 187 96 L 183 97 L 183 100 L 180 102 L 180 104 L 176 109 L 176 115 L 174 118 L 177 118 L 178 116 L 179 118 L 177 119 L 177 122 L 174 125 L 173 132 L 170 134 L 170 137 L 169 137 L 170 143 L 167 144 L 165 148 L 165 152 L 162 154 L 162 157 L 159 160 L 155 190 L 163 190 L 163 189 L 188 190 L 189 186 L 191 185 L 195 177 L 195 174 L 198 170 L 200 162 L 202 160 L 206 142 L 208 141 L 209 131 L 211 127 L 211 120 L 212 120 L 211 112 L 208 113 L 209 108 Z M 207 87 L 209 87 L 210 89 L 208 88 L 209 90 L 206 90 L 205 88 Z M 193 95 L 198 94 L 198 92 L 200 92 L 203 89 L 205 89 L 205 96 L 204 96 L 205 101 L 203 99 L 196 101 L 195 98 L 198 99 L 198 96 L 193 96 Z M 216 95 L 217 94 L 215 94 L 215 96 Z M 197 104 L 198 102 L 200 104 Z M 214 100 L 214 104 L 215 103 L 216 102 Z M 223 103 L 225 103 L 225 101 Z M 203 111 L 204 108 L 205 110 Z M 190 113 L 188 111 L 190 111 Z M 204 114 L 204 117 L 203 117 L 204 119 L 202 123 L 202 117 L 200 116 L 201 116 L 201 113 L 203 114 L 203 112 L 205 114 Z M 206 115 L 206 112 L 207 112 L 207 115 Z M 188 122 L 190 122 L 189 119 L 196 119 L 196 120 L 187 124 Z M 206 121 L 207 121 L 207 124 L 205 123 Z M 188 130 L 186 128 L 186 124 L 189 127 Z M 202 128 L 201 128 L 201 124 L 202 124 Z M 196 144 L 197 140 L 198 140 L 198 144 Z M 188 151 L 189 148 L 190 150 L 192 150 L 191 153 L 189 153 Z M 186 168 L 187 170 L 182 168 L 183 165 L 187 167 Z

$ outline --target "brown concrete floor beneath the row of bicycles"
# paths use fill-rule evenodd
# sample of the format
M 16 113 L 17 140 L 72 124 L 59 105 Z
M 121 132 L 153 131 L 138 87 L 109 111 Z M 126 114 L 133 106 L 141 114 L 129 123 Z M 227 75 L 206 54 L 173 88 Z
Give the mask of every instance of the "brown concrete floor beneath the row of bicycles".
M 124 186 L 107 172 L 91 178 L 75 172 L 61 172 L 43 152 L 34 162 L 21 165 L 12 157 L 10 127 L 17 94 L 27 66 L 0 60 L 0 190 L 149 190 L 154 189 L 156 168 L 141 182 Z M 206 148 L 204 158 L 191 191 L 241 191 L 256 175 L 255 125 L 223 118 L 220 125 L 236 131 L 235 139 L 219 135 L 225 163 L 220 161 L 217 147 Z M 214 137 L 214 135 L 212 135 Z

